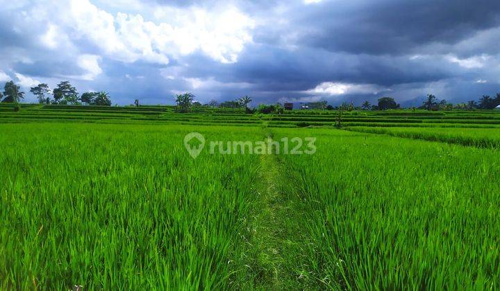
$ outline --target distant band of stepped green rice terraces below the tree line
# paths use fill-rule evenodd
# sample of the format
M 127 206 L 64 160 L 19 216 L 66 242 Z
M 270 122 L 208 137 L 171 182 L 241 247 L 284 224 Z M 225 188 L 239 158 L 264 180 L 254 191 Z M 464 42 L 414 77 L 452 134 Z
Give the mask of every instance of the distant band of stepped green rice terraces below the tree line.
M 3 123 L 30 121 L 72 121 L 85 123 L 153 123 L 185 125 L 260 125 L 267 127 L 332 126 L 335 111 L 290 111 L 285 114 L 245 114 L 244 109 L 194 107 L 189 114 L 175 112 L 172 106 L 99 107 L 65 105 L 23 105 L 15 112 L 12 105 L 0 105 Z M 389 112 L 344 112 L 346 127 L 466 127 L 499 128 L 500 112 L 427 112 L 394 110 Z

